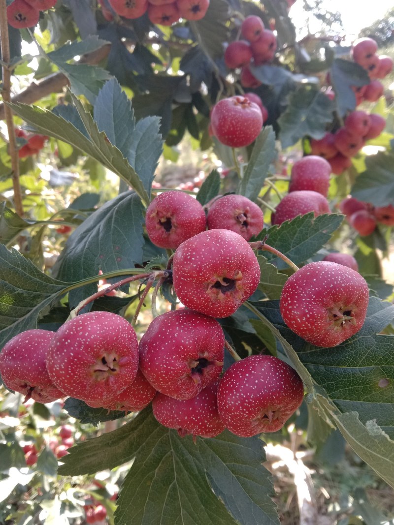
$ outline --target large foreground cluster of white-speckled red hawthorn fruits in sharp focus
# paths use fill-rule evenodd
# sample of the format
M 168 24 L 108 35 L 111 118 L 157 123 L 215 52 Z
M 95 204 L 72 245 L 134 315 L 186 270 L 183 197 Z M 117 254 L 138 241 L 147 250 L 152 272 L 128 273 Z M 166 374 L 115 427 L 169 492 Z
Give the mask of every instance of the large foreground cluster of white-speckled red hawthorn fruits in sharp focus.
M 154 244 L 175 250 L 160 275 L 171 279 L 185 308 L 155 317 L 140 342 L 125 318 L 105 311 L 82 313 L 57 332 L 22 332 L 0 354 L 4 384 L 42 403 L 71 396 L 135 412 L 152 402 L 157 420 L 180 435 L 213 437 L 227 428 L 248 437 L 280 429 L 303 401 L 302 380 L 271 355 L 240 360 L 217 321 L 257 289 L 254 249 L 266 245 L 248 240 L 262 228 L 261 209 L 241 195 L 213 199 L 205 215 L 188 194 L 159 194 L 148 206 L 146 229 Z M 320 261 L 289 277 L 280 310 L 296 334 L 328 348 L 360 330 L 367 305 L 368 286 L 357 271 Z M 223 373 L 225 348 L 235 362 Z

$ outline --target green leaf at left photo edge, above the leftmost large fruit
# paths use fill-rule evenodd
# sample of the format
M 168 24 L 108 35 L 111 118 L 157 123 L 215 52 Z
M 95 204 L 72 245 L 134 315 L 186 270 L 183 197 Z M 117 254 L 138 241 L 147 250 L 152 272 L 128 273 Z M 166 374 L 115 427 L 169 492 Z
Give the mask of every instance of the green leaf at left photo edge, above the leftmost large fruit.
M 68 286 L 0 244 L 0 348 L 14 335 L 36 328 L 40 311 Z

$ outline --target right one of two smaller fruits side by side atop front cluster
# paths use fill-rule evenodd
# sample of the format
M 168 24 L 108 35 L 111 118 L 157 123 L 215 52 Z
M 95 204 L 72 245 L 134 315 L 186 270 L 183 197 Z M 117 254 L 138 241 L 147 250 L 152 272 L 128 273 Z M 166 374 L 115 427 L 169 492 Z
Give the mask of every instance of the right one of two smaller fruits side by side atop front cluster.
M 264 214 L 247 197 L 224 195 L 210 206 L 206 223 L 208 229 L 228 229 L 240 234 L 245 240 L 250 240 L 263 229 Z

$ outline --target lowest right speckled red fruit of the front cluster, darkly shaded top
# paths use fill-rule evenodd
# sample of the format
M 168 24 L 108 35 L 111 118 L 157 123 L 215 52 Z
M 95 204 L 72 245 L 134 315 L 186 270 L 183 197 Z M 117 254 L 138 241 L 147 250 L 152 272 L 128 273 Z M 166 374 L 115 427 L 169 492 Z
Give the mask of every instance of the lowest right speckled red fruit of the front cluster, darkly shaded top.
M 230 432 L 251 437 L 281 429 L 303 398 L 303 382 L 291 366 L 272 355 L 250 355 L 225 371 L 217 409 Z

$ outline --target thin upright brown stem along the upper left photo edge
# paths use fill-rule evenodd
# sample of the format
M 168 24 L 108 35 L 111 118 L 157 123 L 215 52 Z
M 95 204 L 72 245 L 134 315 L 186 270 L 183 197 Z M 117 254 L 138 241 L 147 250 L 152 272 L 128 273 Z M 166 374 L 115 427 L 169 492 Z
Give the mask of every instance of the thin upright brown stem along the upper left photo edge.
M 7 66 L 11 62 L 9 51 L 7 4 L 6 0 L 0 0 L 0 48 L 2 51 L 3 89 L 2 97 L 5 102 L 11 101 L 11 69 Z M 3 103 L 4 106 L 4 103 Z M 11 156 L 12 183 L 14 188 L 14 204 L 16 213 L 23 216 L 22 190 L 19 182 L 19 156 L 16 145 L 14 118 L 11 108 L 5 107 L 5 119 L 8 130 L 9 155 Z

